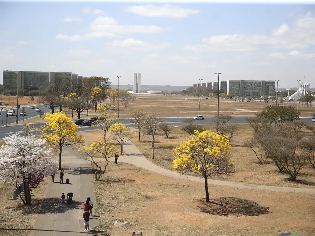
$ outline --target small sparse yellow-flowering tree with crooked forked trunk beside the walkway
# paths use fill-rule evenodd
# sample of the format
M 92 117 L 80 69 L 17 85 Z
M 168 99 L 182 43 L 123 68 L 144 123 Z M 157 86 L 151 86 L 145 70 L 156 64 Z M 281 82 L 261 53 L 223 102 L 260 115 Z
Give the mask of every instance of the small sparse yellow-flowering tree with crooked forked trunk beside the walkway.
M 112 144 L 106 144 L 103 140 L 94 142 L 88 147 L 83 146 L 82 149 L 79 149 L 79 152 L 81 153 L 82 159 L 94 163 L 94 165 L 99 168 L 97 171 L 95 171 L 96 181 L 99 181 L 100 176 L 106 171 L 106 167 L 109 163 L 108 158 L 113 157 L 116 153 L 115 146 Z M 103 161 L 100 158 L 105 158 L 106 160 L 104 170 L 102 170 L 102 166 L 99 165 L 101 161 Z

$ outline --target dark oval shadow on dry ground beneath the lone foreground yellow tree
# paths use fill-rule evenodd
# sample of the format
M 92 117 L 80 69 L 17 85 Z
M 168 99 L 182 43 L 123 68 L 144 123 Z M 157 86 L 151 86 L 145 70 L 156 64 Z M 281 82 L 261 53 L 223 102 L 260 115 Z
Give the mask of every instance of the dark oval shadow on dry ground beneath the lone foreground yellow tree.
M 256 202 L 236 197 L 224 197 L 210 199 L 205 202 L 204 199 L 195 199 L 199 203 L 200 211 L 218 216 L 259 216 L 272 213 L 270 207 L 258 205 Z

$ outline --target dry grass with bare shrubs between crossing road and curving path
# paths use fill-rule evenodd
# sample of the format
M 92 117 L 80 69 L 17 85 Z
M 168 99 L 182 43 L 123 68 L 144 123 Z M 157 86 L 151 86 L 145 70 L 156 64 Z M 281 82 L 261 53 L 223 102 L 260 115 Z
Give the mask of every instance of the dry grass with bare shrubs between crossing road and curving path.
M 173 126 L 174 127 L 174 126 Z M 204 125 L 205 129 L 213 129 L 214 125 Z M 307 130 L 304 130 L 307 132 Z M 138 142 L 137 135 L 134 136 L 131 141 L 138 147 L 138 149 L 146 156 L 146 158 L 152 161 L 157 166 L 161 166 L 168 170 L 173 170 L 173 151 L 172 148 L 180 144 L 180 141 L 186 141 L 189 135 L 183 132 L 180 127 L 174 127 L 170 133 L 170 138 L 166 138 L 165 135 L 159 136 L 155 145 L 154 156 L 152 160 L 152 147 L 144 140 L 149 140 L 149 136 L 144 135 L 142 131 L 141 141 Z M 137 132 L 138 134 L 138 132 Z M 235 133 L 235 138 L 232 139 L 232 161 L 236 166 L 236 173 L 225 180 L 252 183 L 262 185 L 274 185 L 283 187 L 295 187 L 295 188 L 315 188 L 315 171 L 311 168 L 311 165 L 306 162 L 304 168 L 300 171 L 300 175 L 297 177 L 297 181 L 288 180 L 289 175 L 281 174 L 278 172 L 276 165 L 269 163 L 261 165 L 255 153 L 246 147 L 243 147 L 243 143 L 251 137 L 252 128 L 247 124 L 240 124 L 239 130 Z

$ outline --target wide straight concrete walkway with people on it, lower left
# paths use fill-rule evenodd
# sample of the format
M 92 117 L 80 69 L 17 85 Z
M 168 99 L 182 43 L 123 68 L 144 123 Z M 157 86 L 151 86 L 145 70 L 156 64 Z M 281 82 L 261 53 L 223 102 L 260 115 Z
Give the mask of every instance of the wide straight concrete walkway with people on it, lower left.
M 77 150 L 68 149 L 63 151 L 62 166 L 65 169 L 63 182 L 66 183 L 68 178 L 70 184 L 60 184 L 60 172 L 56 173 L 55 183 L 49 183 L 44 201 L 39 206 L 32 236 L 77 236 L 80 232 L 87 233 L 82 217 L 83 203 L 87 197 L 94 205 L 89 228 L 99 224 L 98 216 L 94 215 L 96 199 L 90 162 L 79 159 Z M 69 192 L 73 193 L 72 204 L 67 204 L 66 200 L 61 204 L 61 194 L 67 197 Z M 90 232 L 93 233 L 93 230 Z

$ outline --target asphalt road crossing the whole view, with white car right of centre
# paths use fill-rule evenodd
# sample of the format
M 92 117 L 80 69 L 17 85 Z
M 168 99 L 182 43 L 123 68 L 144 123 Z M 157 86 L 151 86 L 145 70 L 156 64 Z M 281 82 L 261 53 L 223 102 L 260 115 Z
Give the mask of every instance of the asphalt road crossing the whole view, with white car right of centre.
M 46 109 L 48 109 L 46 107 Z M 43 110 L 43 108 L 42 108 Z M 48 110 L 47 110 L 48 111 Z M 46 112 L 47 112 L 46 111 Z M 183 125 L 183 121 L 187 118 L 191 118 L 191 117 L 166 117 L 163 118 L 165 122 L 169 123 L 170 125 Z M 307 123 L 312 123 L 311 118 L 301 118 L 302 121 L 305 121 Z M 134 126 L 133 124 L 130 123 L 130 119 L 119 119 L 119 122 L 122 122 L 125 126 Z M 198 120 L 197 121 L 199 124 L 215 124 L 215 122 L 213 121 L 213 117 L 205 117 L 205 119 L 202 120 Z M 230 124 L 246 124 L 247 121 L 245 120 L 245 117 L 234 117 L 231 121 L 229 121 L 228 123 Z M 35 123 L 32 124 L 32 126 L 34 126 L 35 128 L 38 128 L 39 131 L 35 132 L 34 134 L 40 134 L 40 130 L 41 130 L 41 126 L 44 123 Z M 15 125 L 15 126 L 2 126 L 0 127 L 0 140 L 2 140 L 4 137 L 9 136 L 10 134 L 16 133 L 16 132 L 20 132 L 22 129 L 23 125 Z M 89 130 L 96 130 L 96 127 L 91 127 L 91 126 L 81 126 L 79 127 L 79 132 L 83 132 L 83 131 L 89 131 Z

